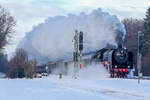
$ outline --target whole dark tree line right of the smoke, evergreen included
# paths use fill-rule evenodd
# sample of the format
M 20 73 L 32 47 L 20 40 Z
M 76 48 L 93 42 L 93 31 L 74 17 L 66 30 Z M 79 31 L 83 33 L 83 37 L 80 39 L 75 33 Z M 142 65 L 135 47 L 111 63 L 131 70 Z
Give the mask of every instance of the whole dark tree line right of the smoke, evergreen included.
M 141 53 L 142 73 L 150 75 L 150 7 L 147 9 L 144 19 L 126 18 L 122 20 L 126 29 L 125 46 L 134 53 L 134 65 L 137 66 L 138 32 L 142 32 Z M 136 73 L 137 75 L 137 67 Z

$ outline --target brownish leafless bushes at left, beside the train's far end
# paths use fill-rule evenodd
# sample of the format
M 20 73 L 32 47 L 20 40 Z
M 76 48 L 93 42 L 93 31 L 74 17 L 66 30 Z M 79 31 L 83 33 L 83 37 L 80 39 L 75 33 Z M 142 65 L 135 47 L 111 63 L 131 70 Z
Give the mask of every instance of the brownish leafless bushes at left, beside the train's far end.
M 8 63 L 8 77 L 33 78 L 35 77 L 35 60 L 28 60 L 28 55 L 23 49 L 18 49 L 15 56 Z

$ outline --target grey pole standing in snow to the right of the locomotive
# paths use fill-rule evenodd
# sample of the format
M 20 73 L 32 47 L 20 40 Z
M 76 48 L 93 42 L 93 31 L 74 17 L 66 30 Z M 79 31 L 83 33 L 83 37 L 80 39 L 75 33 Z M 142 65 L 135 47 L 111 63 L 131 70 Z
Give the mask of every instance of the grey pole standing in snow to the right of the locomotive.
M 141 65 L 141 59 L 142 59 L 142 33 L 141 31 L 138 32 L 138 50 L 137 50 L 137 69 L 138 69 L 138 84 L 140 83 L 140 78 L 142 77 L 142 65 Z

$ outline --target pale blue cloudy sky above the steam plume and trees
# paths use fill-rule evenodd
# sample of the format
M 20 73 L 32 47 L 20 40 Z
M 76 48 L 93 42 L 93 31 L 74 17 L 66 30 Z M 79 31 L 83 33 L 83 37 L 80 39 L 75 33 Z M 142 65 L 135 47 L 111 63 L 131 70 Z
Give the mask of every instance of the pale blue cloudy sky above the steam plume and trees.
M 12 52 L 25 33 L 47 17 L 68 13 L 89 13 L 93 9 L 102 8 L 120 19 L 126 17 L 142 19 L 150 6 L 150 0 L 0 0 L 0 4 L 17 20 L 13 45 L 7 47 L 7 51 Z

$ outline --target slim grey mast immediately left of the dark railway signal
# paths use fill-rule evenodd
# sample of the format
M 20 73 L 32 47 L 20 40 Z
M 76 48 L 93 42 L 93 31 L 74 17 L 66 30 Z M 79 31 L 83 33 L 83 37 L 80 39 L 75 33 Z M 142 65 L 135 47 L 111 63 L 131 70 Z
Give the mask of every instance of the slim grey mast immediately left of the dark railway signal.
M 73 53 L 73 61 L 74 61 L 74 78 L 77 78 L 78 72 L 78 31 L 75 30 L 74 35 L 74 53 Z

